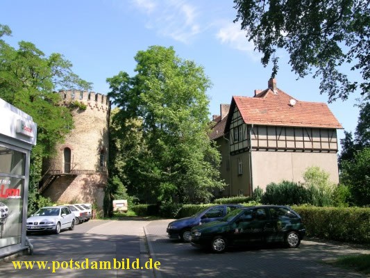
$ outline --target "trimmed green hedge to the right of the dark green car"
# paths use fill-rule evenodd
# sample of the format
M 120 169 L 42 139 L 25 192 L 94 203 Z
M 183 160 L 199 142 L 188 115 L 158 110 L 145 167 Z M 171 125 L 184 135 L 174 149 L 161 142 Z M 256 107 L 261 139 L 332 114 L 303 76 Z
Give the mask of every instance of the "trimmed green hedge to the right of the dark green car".
M 307 236 L 370 244 L 370 208 L 293 206 Z

